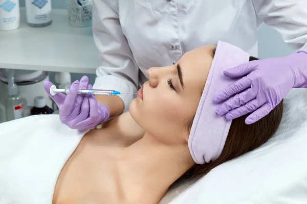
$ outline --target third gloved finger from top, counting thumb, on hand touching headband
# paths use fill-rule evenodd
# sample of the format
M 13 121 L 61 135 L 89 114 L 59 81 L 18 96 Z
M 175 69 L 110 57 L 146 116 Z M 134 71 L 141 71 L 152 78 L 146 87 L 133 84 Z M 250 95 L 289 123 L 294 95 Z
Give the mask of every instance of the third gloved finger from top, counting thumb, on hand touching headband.
M 256 96 L 257 96 L 257 93 L 253 92 L 251 88 L 246 89 L 245 91 L 239 94 L 236 94 L 235 96 L 227 100 L 224 104 L 222 104 L 220 107 L 217 108 L 215 113 L 217 116 L 222 116 L 228 113 L 229 111 L 248 103 L 250 100 L 254 99 Z

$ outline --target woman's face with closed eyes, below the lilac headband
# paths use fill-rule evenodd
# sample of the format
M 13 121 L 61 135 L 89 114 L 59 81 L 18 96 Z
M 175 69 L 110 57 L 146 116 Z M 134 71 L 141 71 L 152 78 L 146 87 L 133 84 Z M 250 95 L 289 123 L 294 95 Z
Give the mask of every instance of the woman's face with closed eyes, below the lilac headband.
M 202 46 L 174 65 L 148 69 L 149 81 L 129 106 L 146 132 L 167 144 L 187 142 L 187 124 L 198 108 L 215 47 Z

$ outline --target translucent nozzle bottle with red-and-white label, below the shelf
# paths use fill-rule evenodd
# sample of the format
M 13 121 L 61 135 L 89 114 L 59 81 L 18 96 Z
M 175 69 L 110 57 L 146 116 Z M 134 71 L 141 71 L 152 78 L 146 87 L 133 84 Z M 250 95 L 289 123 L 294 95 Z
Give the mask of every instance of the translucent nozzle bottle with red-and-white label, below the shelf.
M 6 98 L 6 120 L 14 120 L 24 117 L 23 100 L 14 83 L 14 71 L 10 70 L 8 77 L 8 96 Z

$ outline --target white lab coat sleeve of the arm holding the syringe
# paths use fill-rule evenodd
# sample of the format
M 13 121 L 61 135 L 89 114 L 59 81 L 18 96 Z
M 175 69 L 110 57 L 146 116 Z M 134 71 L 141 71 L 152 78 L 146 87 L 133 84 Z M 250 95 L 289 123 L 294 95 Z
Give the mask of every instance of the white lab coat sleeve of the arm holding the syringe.
M 93 1 L 93 36 L 100 61 L 93 88 L 133 93 L 138 87 L 139 68 L 122 32 L 115 1 Z M 134 95 L 119 96 L 126 111 Z

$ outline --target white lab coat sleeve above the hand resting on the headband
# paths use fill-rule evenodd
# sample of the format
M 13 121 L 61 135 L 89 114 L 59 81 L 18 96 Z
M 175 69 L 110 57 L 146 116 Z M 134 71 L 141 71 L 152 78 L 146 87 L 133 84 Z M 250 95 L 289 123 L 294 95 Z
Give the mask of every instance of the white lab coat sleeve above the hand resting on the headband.
M 307 51 L 306 0 L 252 0 L 260 22 L 277 30 L 293 50 Z

